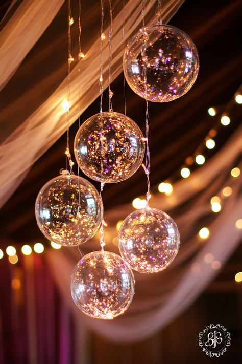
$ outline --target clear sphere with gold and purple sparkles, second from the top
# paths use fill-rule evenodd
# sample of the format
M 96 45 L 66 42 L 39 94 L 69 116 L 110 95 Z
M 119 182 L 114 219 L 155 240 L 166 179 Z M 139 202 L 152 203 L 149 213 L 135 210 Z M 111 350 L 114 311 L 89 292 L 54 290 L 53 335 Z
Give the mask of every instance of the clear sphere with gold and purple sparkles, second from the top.
M 93 115 L 76 135 L 76 160 L 83 173 L 93 180 L 120 182 L 131 177 L 141 165 L 145 150 L 142 138 L 138 125 L 128 116 L 114 112 Z

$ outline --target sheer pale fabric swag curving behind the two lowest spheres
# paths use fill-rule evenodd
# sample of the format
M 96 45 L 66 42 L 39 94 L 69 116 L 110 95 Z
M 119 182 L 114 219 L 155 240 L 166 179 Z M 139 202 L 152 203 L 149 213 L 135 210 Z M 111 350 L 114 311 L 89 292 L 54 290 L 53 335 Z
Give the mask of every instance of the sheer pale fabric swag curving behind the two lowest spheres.
M 138 341 L 160 330 L 195 301 L 218 272 L 212 268 L 211 263 L 205 262 L 205 254 L 212 254 L 213 261 L 219 261 L 223 266 L 241 240 L 241 230 L 235 227 L 236 220 L 241 218 L 242 210 L 240 180 L 230 175 L 230 169 L 239 157 L 241 149 L 242 134 L 239 128 L 221 151 L 198 168 L 188 180 L 174 184 L 172 196 L 154 196 L 152 206 L 168 211 L 172 206 L 178 207 L 185 200 L 191 200 L 202 190 L 192 208 L 175 218 L 181 233 L 181 247 L 177 258 L 161 273 L 135 273 L 136 294 L 123 316 L 106 322 L 90 319 L 82 314 L 72 302 L 69 287 L 72 269 L 80 258 L 79 252 L 76 249 L 48 252 L 55 280 L 79 325 L 85 324 L 112 341 Z M 209 225 L 210 237 L 202 242 L 197 238 L 198 231 L 194 231 L 194 228 L 198 226 L 198 221 L 201 223 L 204 217 L 212 214 L 210 198 L 219 193 L 224 186 L 231 186 L 232 195 L 224 199 L 222 211 L 217 215 L 213 214 L 214 220 Z M 172 204 L 168 203 L 169 200 Z M 117 234 L 114 222 L 124 219 L 131 209 L 131 205 L 124 205 L 107 212 L 107 250 L 117 252 L 111 243 Z M 81 248 L 98 250 L 98 240 L 93 239 Z

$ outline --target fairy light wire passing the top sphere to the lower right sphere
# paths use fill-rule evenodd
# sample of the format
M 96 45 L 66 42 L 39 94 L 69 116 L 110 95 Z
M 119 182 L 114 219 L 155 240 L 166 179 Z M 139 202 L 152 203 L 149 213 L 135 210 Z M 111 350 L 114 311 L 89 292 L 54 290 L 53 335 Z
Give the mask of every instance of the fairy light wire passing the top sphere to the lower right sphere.
M 147 83 L 147 31 L 146 27 L 144 25 L 144 14 L 146 11 L 145 6 L 145 0 L 142 0 L 142 11 L 141 11 L 141 17 L 142 17 L 142 30 L 143 30 L 143 41 L 142 41 L 142 49 L 141 49 L 141 56 L 143 60 L 143 70 L 142 70 L 142 76 L 144 80 L 144 87 L 145 87 L 145 99 L 146 99 L 146 138 L 144 140 L 146 141 L 146 164 L 142 163 L 142 167 L 144 169 L 144 173 L 147 176 L 147 194 L 146 194 L 146 207 L 149 207 L 149 201 L 151 198 L 150 194 L 150 149 L 149 149 L 149 103 L 148 103 L 148 83 Z

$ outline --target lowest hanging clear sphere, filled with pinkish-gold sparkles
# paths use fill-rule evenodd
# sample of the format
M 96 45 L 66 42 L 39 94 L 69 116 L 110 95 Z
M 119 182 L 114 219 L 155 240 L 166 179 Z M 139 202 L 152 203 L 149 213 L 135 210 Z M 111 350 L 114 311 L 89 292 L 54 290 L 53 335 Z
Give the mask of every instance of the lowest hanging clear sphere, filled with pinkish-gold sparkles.
M 85 255 L 74 268 L 70 289 L 83 313 L 112 319 L 129 307 L 134 295 L 134 276 L 121 256 L 94 251 Z

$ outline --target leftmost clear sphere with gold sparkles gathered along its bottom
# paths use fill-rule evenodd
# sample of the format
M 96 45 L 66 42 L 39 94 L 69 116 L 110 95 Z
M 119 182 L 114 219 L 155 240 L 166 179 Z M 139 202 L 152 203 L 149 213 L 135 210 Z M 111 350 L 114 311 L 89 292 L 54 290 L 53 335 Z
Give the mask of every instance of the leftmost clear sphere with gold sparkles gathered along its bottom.
M 84 178 L 61 175 L 47 182 L 35 203 L 37 224 L 44 236 L 64 246 L 85 243 L 98 231 L 100 196 Z

